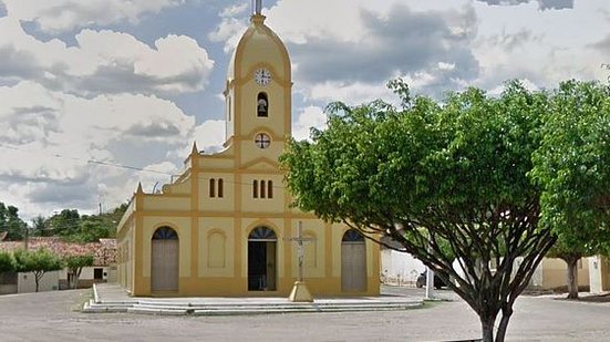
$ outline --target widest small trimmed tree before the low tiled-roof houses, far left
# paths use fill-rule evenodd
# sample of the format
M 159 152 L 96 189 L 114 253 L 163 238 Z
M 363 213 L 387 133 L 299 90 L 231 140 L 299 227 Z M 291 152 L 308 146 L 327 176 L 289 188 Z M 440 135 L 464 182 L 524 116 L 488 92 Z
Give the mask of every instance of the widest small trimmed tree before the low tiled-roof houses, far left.
M 46 272 L 62 269 L 61 258 L 43 248 L 35 251 L 18 249 L 14 251 L 14 260 L 18 272 L 32 272 L 34 274 L 37 292 L 40 280 Z

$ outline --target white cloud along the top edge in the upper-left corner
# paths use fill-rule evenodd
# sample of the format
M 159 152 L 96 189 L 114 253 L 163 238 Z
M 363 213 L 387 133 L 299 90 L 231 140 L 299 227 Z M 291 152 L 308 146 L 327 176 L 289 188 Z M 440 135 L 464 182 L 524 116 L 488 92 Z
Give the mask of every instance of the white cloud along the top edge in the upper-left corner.
M 9 17 L 33 21 L 46 32 L 64 32 L 93 24 L 120 21 L 137 23 L 146 13 L 183 3 L 184 0 L 3 0 Z

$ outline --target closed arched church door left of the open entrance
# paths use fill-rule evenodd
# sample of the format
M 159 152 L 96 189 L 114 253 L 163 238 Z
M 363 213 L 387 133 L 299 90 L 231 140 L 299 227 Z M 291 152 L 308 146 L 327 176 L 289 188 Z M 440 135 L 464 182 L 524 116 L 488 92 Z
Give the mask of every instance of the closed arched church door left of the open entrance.
M 151 291 L 178 291 L 179 243 L 176 230 L 161 227 L 152 238 Z

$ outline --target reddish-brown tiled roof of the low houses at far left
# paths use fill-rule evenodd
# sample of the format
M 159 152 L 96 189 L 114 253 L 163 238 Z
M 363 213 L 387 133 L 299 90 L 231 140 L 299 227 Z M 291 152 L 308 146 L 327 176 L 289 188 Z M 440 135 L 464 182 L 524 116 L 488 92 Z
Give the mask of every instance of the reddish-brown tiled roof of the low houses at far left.
M 0 241 L 0 250 L 13 251 L 24 248 L 24 241 Z M 108 266 L 116 262 L 116 239 L 100 239 L 100 242 L 65 242 L 58 237 L 33 237 L 28 240 L 28 249 L 37 250 L 45 248 L 55 255 L 77 256 L 92 253 L 94 256 L 94 266 Z

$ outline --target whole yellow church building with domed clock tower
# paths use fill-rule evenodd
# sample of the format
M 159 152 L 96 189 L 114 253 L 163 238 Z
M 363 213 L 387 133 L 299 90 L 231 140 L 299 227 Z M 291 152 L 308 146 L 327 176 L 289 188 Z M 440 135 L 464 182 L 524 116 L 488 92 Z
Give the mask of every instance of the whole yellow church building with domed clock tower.
M 379 296 L 380 250 L 347 226 L 291 208 L 278 165 L 291 136 L 291 64 L 257 1 L 226 81 L 226 142 L 194 144 L 159 194 L 137 187 L 117 227 L 117 279 L 131 296 Z M 302 226 L 302 234 L 298 229 Z

